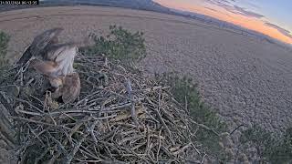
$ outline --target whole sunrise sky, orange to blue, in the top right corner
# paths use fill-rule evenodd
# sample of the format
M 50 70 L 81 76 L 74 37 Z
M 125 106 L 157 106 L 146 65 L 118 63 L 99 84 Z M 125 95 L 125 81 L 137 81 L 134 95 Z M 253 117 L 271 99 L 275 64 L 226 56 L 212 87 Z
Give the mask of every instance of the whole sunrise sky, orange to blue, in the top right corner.
M 292 44 L 292 0 L 154 0 L 171 8 L 210 15 Z

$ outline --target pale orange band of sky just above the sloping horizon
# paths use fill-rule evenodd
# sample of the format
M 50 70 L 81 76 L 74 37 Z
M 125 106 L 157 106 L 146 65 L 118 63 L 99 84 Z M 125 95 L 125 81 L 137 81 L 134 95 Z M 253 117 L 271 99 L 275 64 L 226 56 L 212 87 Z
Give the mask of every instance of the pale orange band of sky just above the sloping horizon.
M 266 26 L 265 21 L 259 18 L 255 17 L 248 17 L 245 15 L 237 15 L 234 13 L 231 13 L 224 9 L 221 6 L 212 5 L 212 9 L 208 9 L 203 5 L 203 2 L 196 2 L 193 1 L 193 4 L 190 5 L 189 3 L 175 3 L 174 1 L 170 0 L 155 0 L 156 2 L 171 7 L 175 9 L 181 9 L 184 11 L 191 11 L 203 15 L 210 15 L 215 18 L 224 20 L 226 22 L 233 23 L 235 25 L 244 26 L 245 28 L 249 28 L 258 32 L 261 32 L 263 34 L 266 34 L 267 36 L 272 36 L 278 40 L 281 40 L 283 42 L 292 44 L 292 38 L 283 35 L 281 32 L 279 32 L 276 28 L 271 26 Z M 202 5 L 201 5 L 201 4 Z

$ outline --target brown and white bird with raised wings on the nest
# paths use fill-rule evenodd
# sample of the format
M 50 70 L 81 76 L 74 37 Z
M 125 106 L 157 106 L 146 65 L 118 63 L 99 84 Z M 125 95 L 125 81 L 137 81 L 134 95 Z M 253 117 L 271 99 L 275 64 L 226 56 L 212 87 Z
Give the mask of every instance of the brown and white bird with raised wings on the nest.
M 35 37 L 17 64 L 29 66 L 47 77 L 55 91 L 53 98 L 62 97 L 64 103 L 74 101 L 80 93 L 80 79 L 73 68 L 78 54 L 76 43 L 59 44 L 57 35 L 63 28 L 53 28 Z

